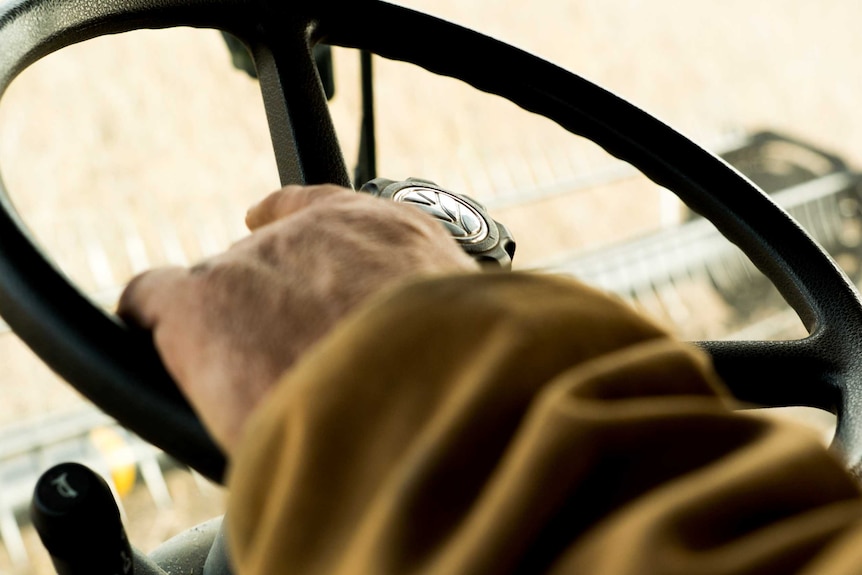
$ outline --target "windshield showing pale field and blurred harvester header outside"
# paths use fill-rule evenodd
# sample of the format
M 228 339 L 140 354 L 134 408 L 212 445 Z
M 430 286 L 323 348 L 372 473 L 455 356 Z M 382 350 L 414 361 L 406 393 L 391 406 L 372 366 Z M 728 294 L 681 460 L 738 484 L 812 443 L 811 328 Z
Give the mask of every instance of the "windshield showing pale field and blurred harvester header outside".
M 400 4 L 534 52 L 659 117 L 759 183 L 862 279 L 862 39 L 848 32 L 862 21 L 862 3 Z M 369 33 L 447 41 L 385 26 Z M 332 58 L 330 109 L 352 168 L 360 57 L 334 48 Z M 506 73 L 504 62 L 488 65 Z M 429 179 L 484 203 L 512 230 L 517 269 L 614 291 L 685 339 L 804 335 L 774 288 L 710 224 L 591 143 L 407 64 L 374 58 L 373 77 L 377 174 Z M 0 165 L 35 237 L 108 309 L 135 273 L 188 265 L 242 237 L 246 208 L 279 187 L 257 83 L 231 65 L 211 30 L 99 38 L 37 63 L 0 106 Z M 12 438 L 0 440 L 9 446 L 0 449 L 0 482 L 27 484 L 46 453 L 101 457 L 106 442 L 140 447 L 122 431 L 120 440 L 93 436 L 111 422 L 92 415 L 13 335 L 0 337 L 0 356 L 0 426 L 10 430 L 0 439 Z M 50 424 L 59 414 L 76 423 Z M 126 467 L 117 469 L 131 465 L 146 478 L 122 490 L 129 513 L 151 519 L 140 521 L 150 531 L 132 532 L 142 547 L 220 509 L 217 490 L 179 479 L 159 454 L 120 452 Z M 20 517 L 21 505 L 0 502 L 0 513 Z M 0 570 L 38 561 L 28 526 L 13 528 L 21 521 L 4 523 Z

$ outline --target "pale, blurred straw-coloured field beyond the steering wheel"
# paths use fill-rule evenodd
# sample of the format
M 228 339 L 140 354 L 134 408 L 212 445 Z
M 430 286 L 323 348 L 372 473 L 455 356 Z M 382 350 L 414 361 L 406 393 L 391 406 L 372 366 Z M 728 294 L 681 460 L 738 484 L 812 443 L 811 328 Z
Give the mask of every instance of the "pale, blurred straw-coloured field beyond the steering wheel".
M 708 148 L 768 128 L 862 165 L 862 39 L 850 29 L 862 21 L 862 3 L 403 4 L 533 51 Z M 336 48 L 334 57 L 331 112 L 352 165 L 358 55 Z M 505 73 L 504 63 L 487 65 Z M 518 240 L 518 267 L 680 217 L 674 198 L 643 179 L 585 185 L 627 172 L 595 146 L 508 102 L 381 59 L 375 80 L 379 173 L 432 179 L 486 202 Z M 108 307 L 134 274 L 224 249 L 245 233 L 246 208 L 279 187 L 256 82 L 231 67 L 217 32 L 188 29 L 97 39 L 27 70 L 0 106 L 0 166 L 35 237 Z M 657 319 L 683 337 L 727 331 L 729 312 L 714 293 L 690 297 L 682 321 Z M 0 337 L 0 357 L 0 426 L 84 405 L 13 335 Z M 158 509 L 141 489 L 124 502 L 132 541 L 142 549 L 221 512 L 220 490 L 181 472 L 166 478 L 170 509 Z M 0 558 L 0 569 L 48 572 L 26 525 L 24 537 L 28 559 Z

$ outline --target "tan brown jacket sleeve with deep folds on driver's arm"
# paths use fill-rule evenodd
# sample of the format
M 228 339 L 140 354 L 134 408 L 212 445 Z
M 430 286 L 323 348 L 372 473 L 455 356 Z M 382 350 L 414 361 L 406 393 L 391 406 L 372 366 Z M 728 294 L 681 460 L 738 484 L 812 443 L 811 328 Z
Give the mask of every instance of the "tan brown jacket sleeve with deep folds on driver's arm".
M 859 572 L 862 502 L 838 461 L 729 405 L 704 354 L 580 284 L 405 286 L 255 414 L 230 475 L 234 559 L 241 575 Z

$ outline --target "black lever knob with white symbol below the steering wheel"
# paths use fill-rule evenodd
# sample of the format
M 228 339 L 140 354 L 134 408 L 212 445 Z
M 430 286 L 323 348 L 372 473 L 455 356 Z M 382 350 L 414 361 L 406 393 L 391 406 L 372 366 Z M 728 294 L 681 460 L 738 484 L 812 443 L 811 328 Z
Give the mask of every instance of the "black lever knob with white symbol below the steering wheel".
M 60 575 L 131 575 L 132 550 L 107 482 L 79 463 L 61 463 L 36 483 L 33 525 Z

